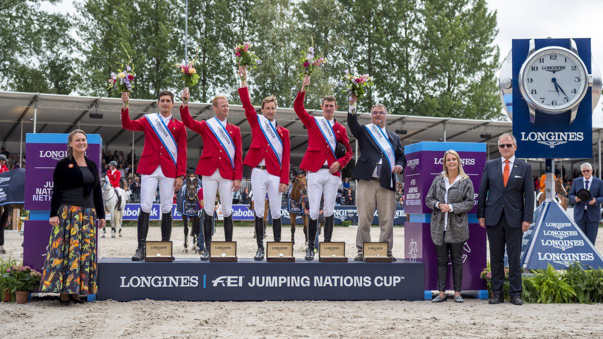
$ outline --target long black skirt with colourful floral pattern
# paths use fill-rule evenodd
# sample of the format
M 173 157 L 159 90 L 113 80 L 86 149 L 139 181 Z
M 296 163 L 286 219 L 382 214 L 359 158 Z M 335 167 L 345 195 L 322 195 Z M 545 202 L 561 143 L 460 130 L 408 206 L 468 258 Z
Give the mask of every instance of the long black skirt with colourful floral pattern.
M 96 227 L 93 208 L 61 205 L 52 227 L 40 291 L 96 293 Z

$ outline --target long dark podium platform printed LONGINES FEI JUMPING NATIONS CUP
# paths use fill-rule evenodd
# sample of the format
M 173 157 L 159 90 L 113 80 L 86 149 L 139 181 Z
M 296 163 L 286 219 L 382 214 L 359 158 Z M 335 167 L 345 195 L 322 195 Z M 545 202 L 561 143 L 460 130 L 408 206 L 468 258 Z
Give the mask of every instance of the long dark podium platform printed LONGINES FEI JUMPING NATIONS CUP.
M 423 300 L 423 263 L 102 258 L 98 300 Z

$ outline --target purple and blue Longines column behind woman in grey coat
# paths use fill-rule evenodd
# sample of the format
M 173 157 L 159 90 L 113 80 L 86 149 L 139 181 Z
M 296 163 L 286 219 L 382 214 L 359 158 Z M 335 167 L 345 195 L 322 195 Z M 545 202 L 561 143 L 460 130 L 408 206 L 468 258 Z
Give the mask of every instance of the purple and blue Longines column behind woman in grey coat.
M 486 284 L 480 273 L 486 267 L 486 232 L 477 220 L 479 183 L 486 161 L 486 145 L 469 142 L 418 142 L 405 146 L 404 210 L 409 222 L 404 224 L 405 258 L 425 264 L 425 299 L 438 290 L 438 261 L 431 239 L 431 212 L 425 204 L 425 195 L 435 177 L 443 170 L 443 156 L 455 150 L 461 157 L 463 170 L 475 189 L 475 204 L 469 212 L 469 240 L 463 250 L 463 290 L 478 291 L 480 299 L 487 299 Z M 452 290 L 452 266 L 449 265 L 447 290 Z

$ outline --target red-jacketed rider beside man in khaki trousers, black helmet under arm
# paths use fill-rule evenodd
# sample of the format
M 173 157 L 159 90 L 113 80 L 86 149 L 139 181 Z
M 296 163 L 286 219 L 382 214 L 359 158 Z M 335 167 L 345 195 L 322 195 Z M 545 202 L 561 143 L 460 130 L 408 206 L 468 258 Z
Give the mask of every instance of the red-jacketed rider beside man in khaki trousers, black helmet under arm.
M 310 77 L 303 78 L 301 90 L 293 104 L 295 113 L 308 128 L 308 150 L 301 160 L 300 168 L 308 171 L 308 200 L 310 204 L 310 220 L 308 222 L 308 249 L 306 260 L 314 259 L 314 238 L 320 215 L 320 199 L 324 195 L 324 241 L 331 241 L 333 234 L 333 214 L 335 198 L 341 182 L 339 172 L 352 159 L 352 147 L 347 138 L 346 127 L 333 117 L 337 110 L 337 101 L 332 95 L 323 98 L 320 108 L 322 116 L 311 116 L 304 108 L 306 86 Z M 339 145 L 343 145 L 339 146 Z M 345 153 L 343 152 L 345 148 Z M 342 151 L 339 151 L 342 150 Z

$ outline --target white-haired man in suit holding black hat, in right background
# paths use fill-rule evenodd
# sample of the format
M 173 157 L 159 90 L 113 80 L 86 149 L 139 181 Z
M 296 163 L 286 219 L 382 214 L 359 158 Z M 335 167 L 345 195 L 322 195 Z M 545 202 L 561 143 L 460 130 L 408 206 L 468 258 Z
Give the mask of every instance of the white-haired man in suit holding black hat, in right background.
M 595 244 L 601 220 L 601 204 L 603 204 L 603 180 L 593 176 L 593 166 L 585 162 L 580 166 L 582 176 L 573 180 L 572 190 L 569 192 L 570 200 L 576 204 L 573 207 L 573 221 L 582 232 Z M 581 201 L 577 197 L 578 191 L 587 189 L 590 192 L 589 201 Z

